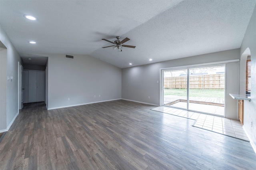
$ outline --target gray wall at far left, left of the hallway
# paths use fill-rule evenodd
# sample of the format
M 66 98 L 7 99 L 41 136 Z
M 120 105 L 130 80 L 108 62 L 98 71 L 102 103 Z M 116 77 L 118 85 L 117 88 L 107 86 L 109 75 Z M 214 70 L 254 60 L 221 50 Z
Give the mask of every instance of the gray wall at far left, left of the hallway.
M 22 60 L 1 26 L 0 41 L 7 48 L 7 76 L 13 77 L 13 80 L 7 81 L 6 85 L 6 127 L 0 129 L 6 130 L 14 121 L 15 116 L 18 115 L 18 61 L 22 64 Z M 5 67 L 4 63 L 1 63 L 0 67 Z

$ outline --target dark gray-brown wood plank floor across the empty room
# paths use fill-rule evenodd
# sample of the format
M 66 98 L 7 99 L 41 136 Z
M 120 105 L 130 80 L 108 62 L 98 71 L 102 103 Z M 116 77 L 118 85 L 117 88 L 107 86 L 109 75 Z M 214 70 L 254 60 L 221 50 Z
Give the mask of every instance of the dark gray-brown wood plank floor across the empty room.
M 0 142 L 0 169 L 255 169 L 249 142 L 192 127 L 154 106 L 25 105 Z

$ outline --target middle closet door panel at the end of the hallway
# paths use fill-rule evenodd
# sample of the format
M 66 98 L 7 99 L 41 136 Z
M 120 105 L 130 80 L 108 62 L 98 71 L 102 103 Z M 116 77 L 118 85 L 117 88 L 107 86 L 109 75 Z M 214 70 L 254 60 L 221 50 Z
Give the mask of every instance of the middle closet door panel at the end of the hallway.
M 28 72 L 28 103 L 36 102 L 36 73 L 37 71 Z

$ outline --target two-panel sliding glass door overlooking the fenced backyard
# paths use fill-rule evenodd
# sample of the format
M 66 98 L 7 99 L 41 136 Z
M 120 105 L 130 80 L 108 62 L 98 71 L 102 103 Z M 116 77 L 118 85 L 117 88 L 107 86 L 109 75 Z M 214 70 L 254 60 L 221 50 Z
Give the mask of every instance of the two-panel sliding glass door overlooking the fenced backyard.
M 163 70 L 162 84 L 162 105 L 224 116 L 225 65 Z

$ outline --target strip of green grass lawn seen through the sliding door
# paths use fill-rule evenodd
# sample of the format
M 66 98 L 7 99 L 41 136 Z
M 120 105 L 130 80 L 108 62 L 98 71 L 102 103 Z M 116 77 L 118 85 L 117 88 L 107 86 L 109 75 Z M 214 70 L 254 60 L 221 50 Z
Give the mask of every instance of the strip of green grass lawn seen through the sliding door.
M 187 89 L 164 89 L 164 95 L 186 96 Z M 190 89 L 190 97 L 214 97 L 224 99 L 224 89 Z

